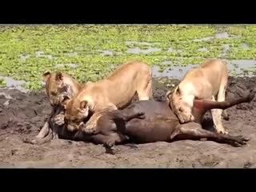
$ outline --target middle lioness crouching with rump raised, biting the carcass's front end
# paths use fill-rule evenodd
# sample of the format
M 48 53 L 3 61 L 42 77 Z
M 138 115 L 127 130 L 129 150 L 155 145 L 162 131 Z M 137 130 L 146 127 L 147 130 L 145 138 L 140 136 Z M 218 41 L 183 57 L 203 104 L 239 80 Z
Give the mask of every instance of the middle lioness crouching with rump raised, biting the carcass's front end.
M 117 110 L 128 106 L 136 93 L 139 100 L 153 98 L 152 72 L 144 62 L 127 62 L 109 77 L 84 86 L 75 98 L 63 100 L 68 130 L 78 130 L 85 118 L 98 110 Z M 97 114 L 92 115 L 83 131 L 92 134 L 98 118 Z

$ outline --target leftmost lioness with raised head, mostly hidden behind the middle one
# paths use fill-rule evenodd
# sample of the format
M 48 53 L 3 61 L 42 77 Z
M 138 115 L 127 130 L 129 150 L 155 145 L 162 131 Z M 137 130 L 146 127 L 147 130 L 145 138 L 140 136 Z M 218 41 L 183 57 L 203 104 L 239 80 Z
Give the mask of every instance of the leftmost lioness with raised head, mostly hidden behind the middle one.
M 58 105 L 61 103 L 63 96 L 73 98 L 74 95 L 78 94 L 78 91 L 82 89 L 82 84 L 75 81 L 74 78 L 70 77 L 70 75 L 59 71 L 54 73 L 47 71 L 42 74 L 42 79 L 44 82 L 46 82 L 46 94 L 50 105 L 52 106 L 50 118 L 56 114 L 56 110 L 58 110 Z M 40 130 L 36 138 L 44 138 L 46 134 L 49 133 L 50 118 L 45 122 L 42 130 Z M 54 137 L 58 137 L 55 132 L 53 133 Z

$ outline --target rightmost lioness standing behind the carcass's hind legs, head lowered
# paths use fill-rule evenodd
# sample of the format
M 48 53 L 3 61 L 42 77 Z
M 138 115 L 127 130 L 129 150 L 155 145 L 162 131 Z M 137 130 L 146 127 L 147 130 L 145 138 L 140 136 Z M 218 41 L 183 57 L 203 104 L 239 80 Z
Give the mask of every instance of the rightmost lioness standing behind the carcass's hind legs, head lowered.
M 201 67 L 189 70 L 171 94 L 170 107 L 180 122 L 194 121 L 191 114 L 195 98 L 225 101 L 228 72 L 219 59 L 207 60 Z M 210 110 L 218 133 L 227 134 L 222 126 L 222 110 Z

